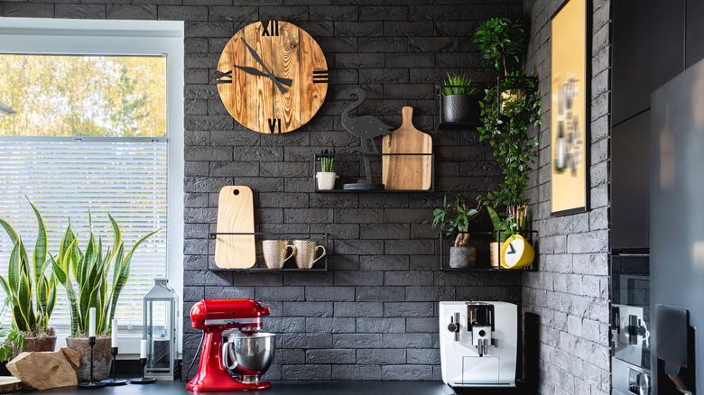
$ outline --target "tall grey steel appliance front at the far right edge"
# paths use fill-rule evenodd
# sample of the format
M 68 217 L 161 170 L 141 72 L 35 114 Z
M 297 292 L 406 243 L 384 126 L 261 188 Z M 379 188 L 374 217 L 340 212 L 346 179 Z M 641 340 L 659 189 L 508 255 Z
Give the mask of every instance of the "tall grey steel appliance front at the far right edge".
M 704 390 L 704 60 L 651 96 L 653 393 Z

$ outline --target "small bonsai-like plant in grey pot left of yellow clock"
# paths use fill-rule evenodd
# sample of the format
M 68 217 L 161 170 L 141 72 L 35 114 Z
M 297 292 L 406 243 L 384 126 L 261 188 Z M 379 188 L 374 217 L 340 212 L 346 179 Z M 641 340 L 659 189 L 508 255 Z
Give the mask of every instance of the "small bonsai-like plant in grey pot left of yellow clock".
M 467 228 L 469 221 L 477 216 L 479 207 L 481 207 L 481 201 L 477 208 L 467 207 L 465 199 L 458 194 L 454 204 L 450 205 L 448 197 L 445 196 L 442 207 L 432 212 L 432 227 L 440 226 L 440 229 L 444 229 L 449 225 L 448 235 L 458 232 L 454 246 L 449 249 L 449 267 L 453 269 L 473 267 L 477 263 L 477 249 L 467 245 L 469 243 Z

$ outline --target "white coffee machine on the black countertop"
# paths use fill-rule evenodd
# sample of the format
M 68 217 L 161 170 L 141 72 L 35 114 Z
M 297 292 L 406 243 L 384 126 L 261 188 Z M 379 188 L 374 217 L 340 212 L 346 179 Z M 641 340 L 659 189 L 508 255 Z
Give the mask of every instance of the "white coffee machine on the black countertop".
M 516 305 L 440 302 L 440 362 L 449 388 L 515 387 L 517 357 Z

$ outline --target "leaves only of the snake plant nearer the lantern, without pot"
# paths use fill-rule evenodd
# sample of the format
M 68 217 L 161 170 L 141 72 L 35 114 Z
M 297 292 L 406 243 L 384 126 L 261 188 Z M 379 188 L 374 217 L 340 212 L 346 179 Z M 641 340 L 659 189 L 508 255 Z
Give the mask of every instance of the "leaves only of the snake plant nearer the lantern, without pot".
M 125 243 L 122 241 L 120 226 L 112 216 L 109 214 L 107 216 L 110 218 L 113 228 L 113 247 L 112 249 L 107 248 L 105 254 L 102 239 L 96 239 L 92 226 L 88 236 L 88 244 L 83 251 L 80 249 L 78 237 L 71 230 L 70 224 L 63 234 L 59 254 L 55 258 L 50 254 L 54 274 L 66 289 L 66 295 L 69 299 L 72 337 L 88 334 L 89 308 L 96 308 L 96 333 L 111 333 L 117 299 L 129 279 L 130 262 L 134 250 L 149 236 L 157 232 L 153 231 L 139 239 L 125 255 Z M 111 266 L 112 281 L 108 281 Z

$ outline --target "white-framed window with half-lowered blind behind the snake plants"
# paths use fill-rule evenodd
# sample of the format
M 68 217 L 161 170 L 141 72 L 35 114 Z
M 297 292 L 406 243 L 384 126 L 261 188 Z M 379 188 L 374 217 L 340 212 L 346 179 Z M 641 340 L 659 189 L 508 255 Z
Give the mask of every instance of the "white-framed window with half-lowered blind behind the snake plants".
M 134 255 L 116 317 L 142 326 L 153 278 L 182 289 L 182 23 L 0 18 L 0 216 L 33 246 L 42 213 L 50 253 L 71 227 L 110 246 L 107 213 Z M 0 234 L 0 272 L 12 246 Z M 52 248 L 53 246 L 53 248 Z M 105 249 L 104 248 L 104 249 Z M 59 287 L 62 289 L 62 287 Z M 60 297 L 51 325 L 69 322 Z

